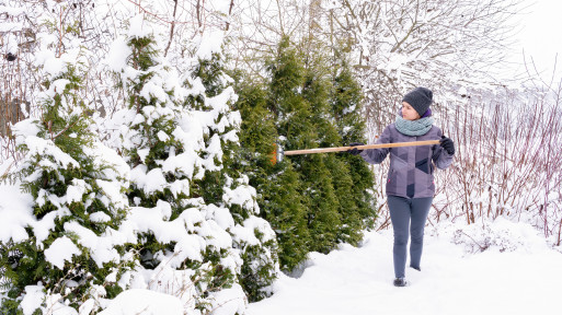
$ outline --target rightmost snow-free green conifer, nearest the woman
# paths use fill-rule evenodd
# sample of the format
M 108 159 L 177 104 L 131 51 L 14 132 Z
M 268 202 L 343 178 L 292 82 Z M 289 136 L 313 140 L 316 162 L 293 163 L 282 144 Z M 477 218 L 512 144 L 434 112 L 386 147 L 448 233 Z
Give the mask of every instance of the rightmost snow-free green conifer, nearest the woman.
M 321 135 L 321 147 L 340 147 L 351 142 L 365 142 L 365 117 L 362 116 L 362 90 L 346 62 L 344 51 L 322 49 L 319 43 L 307 45 L 307 88 L 303 90 L 314 113 L 316 126 Z M 316 50 L 310 50 L 312 49 Z M 332 51 L 330 58 L 325 51 Z M 333 60 L 333 61 L 332 61 Z M 326 66 L 329 65 L 329 66 Z M 331 81 L 331 82 L 326 82 Z M 341 223 L 336 242 L 357 245 L 363 231 L 371 228 L 376 218 L 374 176 L 359 156 L 346 153 L 326 154 L 335 190 Z

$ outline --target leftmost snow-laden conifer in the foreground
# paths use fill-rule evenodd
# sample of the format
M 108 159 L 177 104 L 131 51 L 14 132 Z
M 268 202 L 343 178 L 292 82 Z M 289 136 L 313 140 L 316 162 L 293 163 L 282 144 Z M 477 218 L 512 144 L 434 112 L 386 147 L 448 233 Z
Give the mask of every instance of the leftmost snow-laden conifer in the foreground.
M 134 267 L 117 232 L 128 207 L 123 192 L 129 168 L 89 129 L 88 104 L 79 93 L 88 65 L 79 50 L 44 62 L 51 65 L 38 95 L 43 115 L 13 128 L 25 154 L 18 172 L 33 198 L 34 221 L 27 238 L 0 244 L 10 289 L 2 314 L 20 314 L 20 303 L 27 314 L 84 304 L 93 310 L 94 301 L 124 289 L 121 276 Z

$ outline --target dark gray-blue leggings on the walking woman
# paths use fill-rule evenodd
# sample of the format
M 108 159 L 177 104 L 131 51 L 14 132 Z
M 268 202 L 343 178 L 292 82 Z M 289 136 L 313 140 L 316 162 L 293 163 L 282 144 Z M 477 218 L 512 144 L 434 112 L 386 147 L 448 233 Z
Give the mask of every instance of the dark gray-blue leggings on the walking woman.
M 410 267 L 420 270 L 422 249 L 424 246 L 424 226 L 433 198 L 403 198 L 388 196 L 390 220 L 394 229 L 394 275 L 404 278 L 406 261 L 406 245 L 409 232 L 412 235 L 410 244 Z

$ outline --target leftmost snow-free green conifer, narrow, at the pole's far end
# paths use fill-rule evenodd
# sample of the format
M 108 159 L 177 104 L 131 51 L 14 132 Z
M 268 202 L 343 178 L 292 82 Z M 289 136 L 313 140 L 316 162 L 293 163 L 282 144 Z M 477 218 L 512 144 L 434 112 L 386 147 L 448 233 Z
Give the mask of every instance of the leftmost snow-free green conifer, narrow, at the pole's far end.
M 239 82 L 237 108 L 242 115 L 240 142 L 245 173 L 257 189 L 261 217 L 276 231 L 279 264 L 293 270 L 308 253 L 309 233 L 300 194 L 300 178 L 290 161 L 276 161 L 278 133 L 275 109 L 259 82 Z

